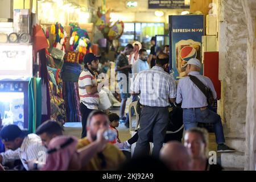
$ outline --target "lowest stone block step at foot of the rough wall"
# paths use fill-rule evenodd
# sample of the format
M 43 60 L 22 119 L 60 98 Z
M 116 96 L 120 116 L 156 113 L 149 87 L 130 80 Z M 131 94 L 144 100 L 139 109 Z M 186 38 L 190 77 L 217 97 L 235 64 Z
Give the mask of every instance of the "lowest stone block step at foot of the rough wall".
M 242 152 L 221 153 L 221 166 L 243 169 L 245 167 L 245 154 Z

